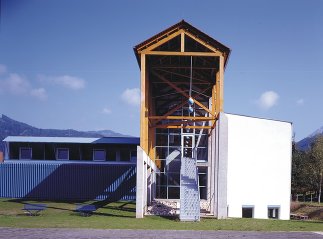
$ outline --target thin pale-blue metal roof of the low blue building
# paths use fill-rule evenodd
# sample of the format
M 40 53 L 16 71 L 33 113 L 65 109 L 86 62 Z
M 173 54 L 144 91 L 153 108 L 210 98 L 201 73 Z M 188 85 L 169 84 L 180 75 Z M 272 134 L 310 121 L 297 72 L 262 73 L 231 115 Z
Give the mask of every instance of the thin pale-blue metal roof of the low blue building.
M 78 143 L 78 144 L 138 144 L 138 137 L 34 137 L 34 136 L 8 136 L 3 141 L 18 143 Z

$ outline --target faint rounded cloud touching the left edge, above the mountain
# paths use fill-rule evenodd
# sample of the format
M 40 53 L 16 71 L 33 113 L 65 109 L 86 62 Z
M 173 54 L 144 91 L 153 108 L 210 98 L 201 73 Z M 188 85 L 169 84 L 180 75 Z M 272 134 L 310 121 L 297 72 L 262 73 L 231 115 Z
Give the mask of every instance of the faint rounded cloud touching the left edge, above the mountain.
M 14 95 L 24 95 L 27 94 L 31 89 L 29 81 L 24 77 L 12 73 L 5 80 L 0 80 L 1 92 L 10 93 Z

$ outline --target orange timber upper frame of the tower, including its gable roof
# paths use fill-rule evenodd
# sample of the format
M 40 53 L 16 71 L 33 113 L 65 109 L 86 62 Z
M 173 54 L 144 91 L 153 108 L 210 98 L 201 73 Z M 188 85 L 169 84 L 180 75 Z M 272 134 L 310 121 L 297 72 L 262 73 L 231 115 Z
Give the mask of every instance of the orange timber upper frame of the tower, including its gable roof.
M 134 47 L 141 70 L 140 146 L 155 158 L 155 129 L 215 128 L 230 49 L 184 20 Z M 194 114 L 179 113 L 194 102 Z

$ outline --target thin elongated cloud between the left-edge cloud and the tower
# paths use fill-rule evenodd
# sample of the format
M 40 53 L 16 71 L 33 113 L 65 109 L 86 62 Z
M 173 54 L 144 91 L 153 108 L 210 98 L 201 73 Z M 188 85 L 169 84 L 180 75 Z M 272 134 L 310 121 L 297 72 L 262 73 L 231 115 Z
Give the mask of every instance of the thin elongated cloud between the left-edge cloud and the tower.
M 85 81 L 79 77 L 63 75 L 63 76 L 39 76 L 42 81 L 51 82 L 53 84 L 62 85 L 71 90 L 81 90 L 85 88 Z

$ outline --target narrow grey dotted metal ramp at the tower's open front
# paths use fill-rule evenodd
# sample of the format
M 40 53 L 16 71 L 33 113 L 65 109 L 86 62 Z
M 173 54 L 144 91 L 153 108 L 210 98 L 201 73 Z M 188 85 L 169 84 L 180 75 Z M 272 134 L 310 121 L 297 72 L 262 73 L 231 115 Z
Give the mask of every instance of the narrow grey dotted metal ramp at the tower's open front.
M 200 191 L 196 158 L 182 158 L 180 188 L 180 220 L 199 221 Z

